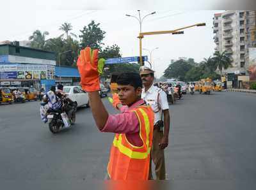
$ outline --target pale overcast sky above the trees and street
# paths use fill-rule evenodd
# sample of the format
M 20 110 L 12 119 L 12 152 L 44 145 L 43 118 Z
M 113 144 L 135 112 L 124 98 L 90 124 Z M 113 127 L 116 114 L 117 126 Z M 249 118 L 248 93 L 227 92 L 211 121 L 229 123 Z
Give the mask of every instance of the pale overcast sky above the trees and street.
M 58 6 L 57 3 L 61 4 L 61 1 L 49 6 L 51 1 L 48 1 L 48 4 L 47 1 L 44 3 L 42 3 L 43 1 L 26 1 L 26 3 L 17 1 L 16 6 L 12 6 L 12 1 L 6 1 L 5 5 L 8 8 L 0 11 L 0 41 L 28 40 L 28 37 L 36 29 L 48 31 L 50 34 L 47 38 L 54 38 L 62 33 L 59 27 L 64 22 L 70 22 L 73 26 L 72 33 L 78 36 L 79 30 L 83 29 L 83 26 L 88 25 L 91 20 L 95 20 L 95 22 L 100 22 L 100 28 L 106 31 L 106 38 L 104 39 L 106 45 L 117 44 L 121 48 L 122 57 L 139 55 L 139 41 L 136 38 L 140 29 L 138 20 L 125 16 L 125 14 L 138 16 L 138 11 L 96 10 L 97 4 L 81 6 L 80 8 L 84 10 L 70 10 L 72 8 L 78 9 L 79 6 L 74 5 L 74 3 L 69 4 L 69 8 L 68 4 Z M 120 9 L 124 9 L 124 1 L 120 2 L 121 4 L 123 2 Z M 1 3 L 1 6 L 3 4 L 4 2 Z M 10 11 L 11 8 L 13 8 L 12 11 Z M 90 8 L 94 10 L 90 10 Z M 152 11 L 156 11 L 156 14 L 145 18 L 142 27 L 143 32 L 172 30 L 200 22 L 206 23 L 205 27 L 186 29 L 181 35 L 161 34 L 143 38 L 143 48 L 152 50 L 159 47 L 152 53 L 153 69 L 156 70 L 157 77 L 163 74 L 171 59 L 192 57 L 196 62 L 200 62 L 204 57 L 213 54 L 215 45 L 212 39 L 214 36 L 212 17 L 214 13 L 221 11 L 151 9 L 141 11 L 141 15 L 146 15 Z M 143 55 L 148 55 L 148 52 L 143 51 Z

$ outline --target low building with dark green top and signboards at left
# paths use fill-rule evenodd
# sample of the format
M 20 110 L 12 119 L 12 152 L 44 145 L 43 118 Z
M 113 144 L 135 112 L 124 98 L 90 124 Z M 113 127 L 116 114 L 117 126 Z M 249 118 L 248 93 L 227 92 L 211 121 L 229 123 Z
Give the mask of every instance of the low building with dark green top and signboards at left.
M 55 53 L 19 43 L 0 45 L 0 84 L 7 86 L 44 87 L 55 85 Z

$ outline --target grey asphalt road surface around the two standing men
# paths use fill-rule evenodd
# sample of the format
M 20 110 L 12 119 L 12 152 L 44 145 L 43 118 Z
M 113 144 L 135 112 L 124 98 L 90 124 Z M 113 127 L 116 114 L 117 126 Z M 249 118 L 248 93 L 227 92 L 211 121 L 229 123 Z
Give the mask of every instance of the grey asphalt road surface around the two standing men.
M 241 92 L 187 94 L 170 105 L 167 189 L 255 189 L 255 108 L 256 95 Z M 0 184 L 84 189 L 104 179 L 112 140 L 98 131 L 90 108 L 77 111 L 74 127 L 53 135 L 40 120 L 39 101 L 0 105 Z

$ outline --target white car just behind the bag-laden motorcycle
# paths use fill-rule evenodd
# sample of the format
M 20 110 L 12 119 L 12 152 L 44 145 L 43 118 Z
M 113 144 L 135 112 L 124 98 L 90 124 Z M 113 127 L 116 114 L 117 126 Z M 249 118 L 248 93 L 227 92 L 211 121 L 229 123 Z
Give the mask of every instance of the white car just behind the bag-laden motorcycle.
M 63 91 L 67 94 L 68 98 L 77 103 L 77 107 L 89 106 L 88 94 L 80 86 L 65 86 Z

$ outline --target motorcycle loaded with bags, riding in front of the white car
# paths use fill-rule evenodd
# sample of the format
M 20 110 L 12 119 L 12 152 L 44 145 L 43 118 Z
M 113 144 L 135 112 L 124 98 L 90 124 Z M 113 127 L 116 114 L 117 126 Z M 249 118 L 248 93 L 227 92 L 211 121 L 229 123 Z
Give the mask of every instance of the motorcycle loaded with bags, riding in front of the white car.
M 63 110 L 64 106 L 67 105 L 63 104 L 63 106 L 57 110 L 52 110 L 51 108 L 47 110 L 49 130 L 52 133 L 58 133 L 63 128 L 70 128 L 70 126 L 76 122 L 76 105 L 70 103 L 70 106 L 72 106 L 72 109 L 69 110 L 70 118 L 68 118 L 67 113 Z

